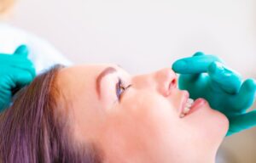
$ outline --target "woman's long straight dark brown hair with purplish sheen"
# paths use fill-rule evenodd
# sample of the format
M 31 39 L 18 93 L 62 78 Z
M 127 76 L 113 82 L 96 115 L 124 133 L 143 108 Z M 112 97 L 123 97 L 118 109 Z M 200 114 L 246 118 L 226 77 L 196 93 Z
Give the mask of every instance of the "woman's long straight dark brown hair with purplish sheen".
M 61 96 L 53 68 L 37 76 L 0 115 L 3 162 L 102 162 L 95 145 L 74 143 L 67 114 L 58 109 Z

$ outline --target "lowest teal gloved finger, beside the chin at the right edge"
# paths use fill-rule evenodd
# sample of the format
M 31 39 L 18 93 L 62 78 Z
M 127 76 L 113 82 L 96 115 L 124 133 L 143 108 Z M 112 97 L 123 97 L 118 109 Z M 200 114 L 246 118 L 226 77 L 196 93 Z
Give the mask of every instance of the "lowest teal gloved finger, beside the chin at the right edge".
M 226 136 L 256 126 L 256 110 L 230 117 L 229 132 Z

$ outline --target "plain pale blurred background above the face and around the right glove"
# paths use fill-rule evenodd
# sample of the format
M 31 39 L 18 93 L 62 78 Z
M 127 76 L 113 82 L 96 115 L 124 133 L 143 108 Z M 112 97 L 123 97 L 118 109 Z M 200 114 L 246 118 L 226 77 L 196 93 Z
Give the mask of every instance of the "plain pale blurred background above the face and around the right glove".
M 134 74 L 202 51 L 256 77 L 255 0 L 20 0 L 9 23 L 75 63 L 117 63 Z M 253 130 L 225 139 L 237 162 L 256 161 Z

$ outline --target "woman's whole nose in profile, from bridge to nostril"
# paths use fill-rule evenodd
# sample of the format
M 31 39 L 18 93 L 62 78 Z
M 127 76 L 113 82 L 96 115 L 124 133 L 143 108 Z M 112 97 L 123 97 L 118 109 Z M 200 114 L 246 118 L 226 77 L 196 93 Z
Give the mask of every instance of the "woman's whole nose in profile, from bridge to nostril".
M 163 96 L 168 96 L 172 89 L 177 88 L 177 75 L 171 68 L 165 68 L 151 74 L 135 76 L 132 82 L 137 88 L 154 89 Z

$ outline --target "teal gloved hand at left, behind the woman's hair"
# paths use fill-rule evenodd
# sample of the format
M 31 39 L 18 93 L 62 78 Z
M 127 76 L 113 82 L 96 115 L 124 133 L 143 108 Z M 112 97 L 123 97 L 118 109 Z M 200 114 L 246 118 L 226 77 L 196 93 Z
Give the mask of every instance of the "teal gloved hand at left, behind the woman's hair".
M 12 55 L 0 53 L 0 111 L 9 106 L 15 91 L 29 84 L 36 76 L 27 54 L 25 45 L 16 48 Z

